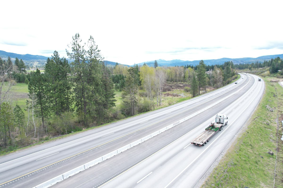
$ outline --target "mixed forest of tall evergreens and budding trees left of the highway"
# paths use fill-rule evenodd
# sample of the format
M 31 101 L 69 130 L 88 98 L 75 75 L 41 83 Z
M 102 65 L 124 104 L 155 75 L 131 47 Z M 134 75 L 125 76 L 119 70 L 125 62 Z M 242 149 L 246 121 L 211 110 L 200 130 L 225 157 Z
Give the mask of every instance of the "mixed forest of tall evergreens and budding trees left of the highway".
M 88 127 L 134 116 L 164 107 L 164 92 L 170 85 L 183 85 L 190 97 L 220 88 L 237 79 L 237 70 L 270 67 L 282 69 L 282 59 L 263 63 L 207 66 L 154 67 L 116 64 L 108 66 L 92 36 L 83 43 L 79 34 L 66 50 L 72 62 L 55 50 L 46 60 L 44 72 L 27 72 L 22 59 L 0 58 L 0 149 L 9 150 L 69 134 Z M 281 73 L 281 72 L 280 72 Z M 25 83 L 25 108 L 13 105 L 12 86 Z M 115 91 L 121 91 L 116 105 Z

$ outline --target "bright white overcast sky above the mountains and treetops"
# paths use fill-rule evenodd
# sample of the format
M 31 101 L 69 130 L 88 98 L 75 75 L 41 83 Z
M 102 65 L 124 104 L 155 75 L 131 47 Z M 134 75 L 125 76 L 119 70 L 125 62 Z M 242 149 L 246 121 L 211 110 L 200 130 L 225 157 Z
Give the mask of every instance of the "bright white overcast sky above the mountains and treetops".
M 205 60 L 283 54 L 282 0 L 1 1 L 0 50 L 50 57 L 79 33 L 105 60 Z M 68 49 L 70 50 L 70 49 Z

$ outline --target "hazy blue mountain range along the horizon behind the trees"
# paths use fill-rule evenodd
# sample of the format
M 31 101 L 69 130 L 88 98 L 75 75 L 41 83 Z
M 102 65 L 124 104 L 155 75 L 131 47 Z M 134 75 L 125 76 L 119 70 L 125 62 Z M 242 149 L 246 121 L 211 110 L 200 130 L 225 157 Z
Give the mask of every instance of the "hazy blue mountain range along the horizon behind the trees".
M 6 59 L 7 57 L 11 57 L 12 59 L 15 59 L 18 57 L 18 59 L 22 59 L 23 61 L 38 61 L 38 60 L 45 60 L 48 57 L 45 56 L 38 56 L 38 55 L 31 55 L 31 54 L 15 54 L 10 52 L 5 52 L 3 50 L 0 50 L 0 57 Z M 221 59 L 209 59 L 209 60 L 203 60 L 206 65 L 221 65 L 226 61 L 233 61 L 234 64 L 244 64 L 244 63 L 255 63 L 255 62 L 263 62 L 265 60 L 270 60 L 271 58 L 275 59 L 276 57 L 283 58 L 283 54 L 277 54 L 277 55 L 269 55 L 269 56 L 260 56 L 260 57 L 243 57 L 243 58 L 221 58 Z M 69 60 L 69 59 L 68 59 Z M 72 61 L 71 59 L 69 61 Z M 148 66 L 153 67 L 154 61 L 146 61 L 143 63 L 137 63 L 137 65 L 142 66 L 144 63 L 146 63 Z M 180 59 L 173 59 L 170 61 L 166 61 L 164 59 L 158 59 L 156 60 L 158 63 L 158 66 L 167 66 L 167 67 L 175 67 L 175 66 L 185 66 L 185 65 L 198 65 L 200 60 L 194 60 L 194 61 L 183 61 Z M 105 61 L 107 65 L 115 66 L 116 63 L 113 61 Z M 121 64 L 121 63 L 118 63 Z M 122 64 L 124 65 L 124 64 Z M 126 65 L 130 66 L 130 65 Z M 132 65 L 133 66 L 133 65 Z

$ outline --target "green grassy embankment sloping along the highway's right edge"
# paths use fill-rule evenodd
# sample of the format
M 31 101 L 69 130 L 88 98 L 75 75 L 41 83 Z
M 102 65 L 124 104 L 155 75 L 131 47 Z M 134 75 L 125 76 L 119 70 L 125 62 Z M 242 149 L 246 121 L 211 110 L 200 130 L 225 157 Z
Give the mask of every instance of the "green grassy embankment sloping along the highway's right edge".
M 271 80 L 270 77 L 264 78 L 265 94 L 258 108 L 247 123 L 245 131 L 205 180 L 202 188 L 273 187 L 275 163 L 275 187 L 283 187 L 283 141 L 280 140 L 283 88 L 278 84 L 278 79 L 275 82 Z M 279 131 L 276 160 L 277 114 Z M 269 151 L 274 152 L 274 155 L 268 154 Z

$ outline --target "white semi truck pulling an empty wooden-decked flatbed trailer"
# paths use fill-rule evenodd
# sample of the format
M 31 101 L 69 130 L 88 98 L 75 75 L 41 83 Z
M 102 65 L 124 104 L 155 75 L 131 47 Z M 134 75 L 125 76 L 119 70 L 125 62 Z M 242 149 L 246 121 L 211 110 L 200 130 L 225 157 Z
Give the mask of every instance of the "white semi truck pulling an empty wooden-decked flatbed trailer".
M 216 114 L 215 116 L 215 122 L 211 122 L 210 125 L 205 128 L 205 131 L 203 131 L 198 137 L 196 137 L 191 144 L 198 145 L 198 146 L 204 146 L 209 139 L 216 134 L 216 132 L 221 131 L 223 129 L 224 125 L 227 125 L 228 123 L 228 117 L 223 114 Z

